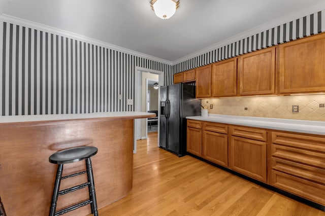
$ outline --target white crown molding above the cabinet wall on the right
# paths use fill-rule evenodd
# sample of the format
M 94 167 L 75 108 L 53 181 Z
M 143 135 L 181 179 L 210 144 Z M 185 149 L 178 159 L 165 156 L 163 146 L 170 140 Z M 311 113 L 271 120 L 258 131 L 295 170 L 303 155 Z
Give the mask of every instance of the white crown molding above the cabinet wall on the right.
M 259 25 L 259 26 L 256 26 L 254 28 L 251 28 L 247 31 L 244 31 L 244 32 L 241 32 L 231 38 L 228 38 L 226 40 L 223 40 L 219 43 L 216 43 L 216 44 L 213 44 L 209 47 L 206 47 L 204 49 L 201 49 L 197 52 L 194 52 L 194 53 L 191 53 L 187 56 L 184 56 L 182 58 L 179 58 L 175 61 L 172 62 L 172 65 L 175 65 L 175 64 L 178 64 L 180 62 L 183 62 L 183 61 L 186 61 L 188 59 L 191 59 L 191 58 L 194 58 L 194 57 L 197 57 L 199 55 L 202 55 L 202 54 L 205 54 L 211 50 L 214 50 L 216 48 L 220 48 L 220 47 L 223 47 L 225 45 L 229 45 L 229 44 L 232 44 L 236 41 L 239 41 L 239 40 L 242 40 L 244 38 L 247 38 L 247 37 L 250 37 L 251 35 L 254 35 L 254 34 L 257 34 L 257 33 L 260 33 L 262 31 L 265 31 L 265 30 L 268 30 L 268 29 L 271 29 L 271 28 L 274 28 L 278 25 L 281 25 L 281 24 L 284 24 L 284 23 L 287 23 L 287 22 L 291 22 L 293 20 L 296 20 L 296 19 L 299 19 L 299 18 L 302 18 L 304 16 L 308 16 L 310 14 L 313 14 L 313 13 L 317 13 L 319 11 L 322 11 L 325 9 L 325 1 L 320 3 L 320 4 L 317 4 L 313 7 L 310 7 L 310 8 L 306 8 L 304 10 L 300 10 L 300 11 L 295 11 L 293 13 L 290 13 L 290 14 L 287 14 L 285 16 L 282 16 L 282 17 L 279 17 L 279 18 L 276 18 L 276 19 L 273 19 L 271 21 L 268 21 L 262 25 Z

